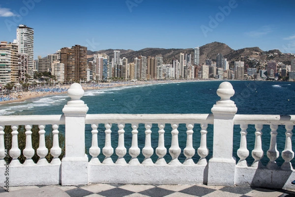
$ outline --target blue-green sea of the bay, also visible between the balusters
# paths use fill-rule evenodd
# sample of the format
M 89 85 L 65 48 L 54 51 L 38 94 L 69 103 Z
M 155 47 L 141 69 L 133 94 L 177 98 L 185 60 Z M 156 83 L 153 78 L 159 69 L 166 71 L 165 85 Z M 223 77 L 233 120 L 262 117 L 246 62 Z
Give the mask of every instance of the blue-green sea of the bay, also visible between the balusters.
M 198 81 L 185 83 L 169 83 L 169 84 L 152 84 L 152 85 L 135 85 L 116 87 L 100 90 L 89 90 L 85 92 L 82 100 L 89 106 L 88 114 L 98 113 L 130 113 L 130 114 L 154 114 L 154 113 L 211 113 L 213 104 L 219 99 L 216 90 L 222 81 Z M 277 81 L 230 81 L 236 94 L 232 97 L 238 108 L 237 114 L 279 114 L 292 115 L 295 114 L 295 83 L 293 82 L 277 82 Z M 62 108 L 69 98 L 66 95 L 48 96 L 43 98 L 30 99 L 20 103 L 10 103 L 0 105 L 0 115 L 27 115 L 27 114 L 61 114 Z M 60 127 L 60 131 L 63 127 Z M 104 147 L 104 130 L 102 124 L 99 125 L 99 147 Z M 125 125 L 125 147 L 127 150 L 131 146 L 131 125 Z M 157 147 L 157 125 L 153 125 L 152 129 L 152 147 Z M 167 151 L 170 147 L 171 126 L 165 127 L 165 146 Z M 193 146 L 196 149 L 200 146 L 200 125 L 195 125 L 193 131 Z M 207 146 L 209 148 L 208 159 L 212 154 L 212 125 L 208 126 Z M 118 127 L 113 124 L 112 128 L 112 146 L 117 147 Z M 144 124 L 139 125 L 139 146 L 144 147 L 145 128 Z M 186 141 L 186 128 L 184 124 L 180 124 L 179 128 L 179 146 L 183 151 Z M 234 130 L 234 156 L 239 148 L 239 126 L 235 126 Z M 250 151 L 248 164 L 252 164 L 251 150 L 254 149 L 254 125 L 249 125 L 247 135 L 247 145 Z M 277 136 L 277 149 L 281 153 L 285 146 L 285 128 L 279 126 Z M 267 164 L 266 151 L 269 148 L 269 126 L 263 129 L 263 150 L 265 156 L 262 159 L 263 164 Z M 87 150 L 91 146 L 91 127 L 86 126 L 86 146 Z M 90 156 L 91 157 L 91 156 Z M 114 161 L 116 161 L 114 153 Z M 99 159 L 102 161 L 104 156 L 102 153 Z M 126 155 L 127 160 L 131 157 Z M 238 160 L 238 157 L 236 157 Z M 144 159 L 143 155 L 139 156 L 140 161 Z M 157 156 L 154 154 L 152 159 L 155 161 Z M 184 161 L 185 157 L 181 153 L 179 160 Z M 198 161 L 199 156 L 193 158 Z M 170 160 L 169 154 L 166 160 Z M 281 156 L 277 160 L 281 165 L 283 160 Z M 295 162 L 293 162 L 295 164 Z

